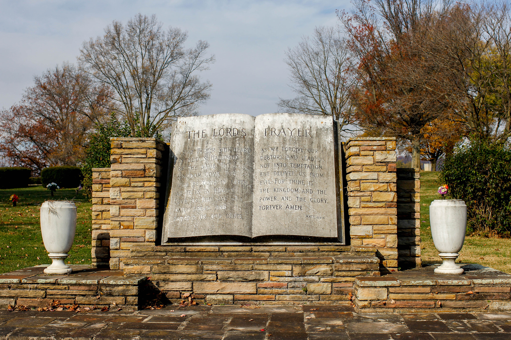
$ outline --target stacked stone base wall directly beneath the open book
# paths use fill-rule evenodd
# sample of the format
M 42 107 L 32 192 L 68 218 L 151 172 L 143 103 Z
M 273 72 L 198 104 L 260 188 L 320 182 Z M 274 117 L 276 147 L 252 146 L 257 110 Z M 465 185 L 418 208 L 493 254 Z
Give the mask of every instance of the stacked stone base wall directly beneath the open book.
M 374 247 L 132 247 L 126 276 L 145 275 L 172 303 L 351 304 L 358 276 L 380 276 Z

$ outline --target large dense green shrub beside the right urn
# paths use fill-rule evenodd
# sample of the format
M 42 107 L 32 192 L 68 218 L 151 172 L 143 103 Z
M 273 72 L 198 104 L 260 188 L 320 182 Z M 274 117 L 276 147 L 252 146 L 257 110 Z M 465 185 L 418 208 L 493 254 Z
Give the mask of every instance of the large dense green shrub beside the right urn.
M 472 140 L 449 156 L 440 173 L 449 195 L 467 204 L 467 232 L 511 234 L 511 151 Z

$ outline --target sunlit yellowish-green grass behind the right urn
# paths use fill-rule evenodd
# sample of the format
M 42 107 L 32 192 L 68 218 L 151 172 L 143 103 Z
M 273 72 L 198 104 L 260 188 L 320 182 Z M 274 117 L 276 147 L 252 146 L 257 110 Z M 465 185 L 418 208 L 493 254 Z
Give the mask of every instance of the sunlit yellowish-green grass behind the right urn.
M 438 181 L 438 172 L 421 172 L 421 254 L 425 264 L 442 263 L 433 244 L 429 224 L 429 205 L 434 199 L 442 199 L 437 192 L 441 185 L 443 183 Z M 457 263 L 475 263 L 511 273 L 511 261 L 509 261 L 511 239 L 467 236 L 459 253 Z

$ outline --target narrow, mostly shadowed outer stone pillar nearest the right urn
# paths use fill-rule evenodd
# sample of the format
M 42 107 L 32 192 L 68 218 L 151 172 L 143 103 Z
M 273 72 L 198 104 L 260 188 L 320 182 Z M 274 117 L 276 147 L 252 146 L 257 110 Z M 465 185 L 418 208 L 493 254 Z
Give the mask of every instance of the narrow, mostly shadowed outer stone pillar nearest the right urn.
M 421 181 L 419 168 L 398 169 L 398 263 L 421 267 Z

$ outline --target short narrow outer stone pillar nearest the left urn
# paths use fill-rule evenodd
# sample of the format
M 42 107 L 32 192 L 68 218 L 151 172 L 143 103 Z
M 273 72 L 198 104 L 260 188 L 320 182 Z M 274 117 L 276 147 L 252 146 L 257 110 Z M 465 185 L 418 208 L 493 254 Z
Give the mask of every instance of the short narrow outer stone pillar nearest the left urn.
M 110 260 L 110 168 L 92 169 L 92 266 Z

